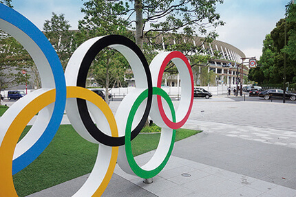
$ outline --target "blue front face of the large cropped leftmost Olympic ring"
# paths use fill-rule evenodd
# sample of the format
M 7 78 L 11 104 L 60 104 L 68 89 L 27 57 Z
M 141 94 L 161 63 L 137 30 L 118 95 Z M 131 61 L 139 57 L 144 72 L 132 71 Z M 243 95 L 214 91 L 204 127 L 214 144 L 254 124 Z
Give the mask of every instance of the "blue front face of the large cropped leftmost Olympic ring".
M 34 143 L 34 145 L 27 151 L 24 152 L 20 157 L 14 159 L 12 163 L 12 175 L 23 170 L 32 161 L 34 161 L 39 155 L 45 150 L 50 144 L 56 131 L 58 130 L 63 113 L 65 111 L 66 103 L 66 83 L 63 72 L 63 67 L 56 54 L 56 51 L 44 36 L 44 34 L 25 16 L 19 14 L 19 12 L 9 8 L 6 5 L 0 3 L 0 19 L 14 25 L 19 31 L 29 36 L 32 41 L 41 49 L 45 58 L 50 64 L 52 74 L 54 76 L 54 83 L 56 85 L 56 101 L 54 103 L 54 111 L 50 119 L 47 128 L 43 132 L 43 135 Z M 10 32 L 7 32 L 10 34 Z

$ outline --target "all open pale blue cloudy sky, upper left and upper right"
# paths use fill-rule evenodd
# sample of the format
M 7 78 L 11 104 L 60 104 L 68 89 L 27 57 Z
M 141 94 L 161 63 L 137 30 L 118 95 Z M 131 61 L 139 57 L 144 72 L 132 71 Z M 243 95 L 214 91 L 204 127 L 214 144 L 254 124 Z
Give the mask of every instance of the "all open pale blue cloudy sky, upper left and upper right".
M 12 0 L 14 9 L 26 16 L 40 30 L 52 12 L 65 14 L 71 30 L 78 29 L 78 20 L 85 0 Z M 289 0 L 224 0 L 217 12 L 226 24 L 218 27 L 218 40 L 229 43 L 244 52 L 246 57 L 262 55 L 262 44 L 279 19 L 284 18 Z

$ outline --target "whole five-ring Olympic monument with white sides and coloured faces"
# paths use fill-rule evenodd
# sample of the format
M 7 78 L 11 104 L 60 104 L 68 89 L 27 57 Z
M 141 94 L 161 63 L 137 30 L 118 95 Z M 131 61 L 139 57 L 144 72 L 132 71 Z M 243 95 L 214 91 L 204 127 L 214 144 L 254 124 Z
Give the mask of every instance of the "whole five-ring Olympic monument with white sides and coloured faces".
M 101 196 L 116 161 L 126 173 L 141 178 L 152 178 L 165 167 L 176 129 L 185 124 L 193 105 L 193 75 L 183 54 L 163 52 L 148 65 L 142 51 L 128 38 L 102 36 L 78 47 L 64 73 L 56 51 L 44 34 L 19 12 L 1 3 L 0 29 L 25 47 L 39 70 L 42 83 L 41 89 L 13 104 L 0 118 L 0 196 L 18 196 L 12 175 L 45 150 L 61 124 L 64 111 L 81 137 L 99 144 L 94 168 L 73 196 Z M 105 47 L 112 47 L 125 56 L 136 81 L 136 89 L 120 103 L 115 117 L 100 96 L 85 89 L 89 66 Z M 162 74 L 170 61 L 178 68 L 182 80 L 176 112 L 169 95 L 161 89 Z M 18 143 L 21 132 L 37 113 L 34 125 Z M 148 116 L 162 132 L 154 156 L 139 166 L 131 152 L 131 140 L 138 135 Z

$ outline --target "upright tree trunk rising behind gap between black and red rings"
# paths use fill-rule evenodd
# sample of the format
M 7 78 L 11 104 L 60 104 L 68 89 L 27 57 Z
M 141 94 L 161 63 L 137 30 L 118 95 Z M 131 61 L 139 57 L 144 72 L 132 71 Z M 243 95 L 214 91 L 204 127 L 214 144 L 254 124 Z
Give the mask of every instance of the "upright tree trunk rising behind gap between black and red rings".
M 144 37 L 143 37 L 143 12 L 142 12 L 142 0 L 135 0 L 136 10 L 136 44 L 142 49 Z

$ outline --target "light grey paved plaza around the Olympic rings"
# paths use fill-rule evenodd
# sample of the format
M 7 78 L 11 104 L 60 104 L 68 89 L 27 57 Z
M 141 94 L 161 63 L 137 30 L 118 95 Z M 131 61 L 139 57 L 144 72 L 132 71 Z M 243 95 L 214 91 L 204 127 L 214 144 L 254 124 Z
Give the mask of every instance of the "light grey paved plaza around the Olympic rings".
M 118 104 L 110 104 L 112 111 Z M 116 166 L 103 196 L 296 196 L 295 112 L 296 103 L 195 99 L 183 127 L 203 132 L 175 143 L 154 183 L 142 183 Z M 136 160 L 145 163 L 152 154 Z M 87 176 L 30 197 L 72 196 Z

